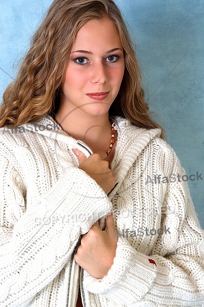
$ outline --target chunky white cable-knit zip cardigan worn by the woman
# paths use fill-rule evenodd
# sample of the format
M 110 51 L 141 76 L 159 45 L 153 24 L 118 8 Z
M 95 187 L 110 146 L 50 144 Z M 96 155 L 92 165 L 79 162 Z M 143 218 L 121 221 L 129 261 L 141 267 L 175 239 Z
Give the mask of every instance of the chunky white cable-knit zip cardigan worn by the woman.
M 204 239 L 187 184 L 147 183 L 148 176 L 184 170 L 159 129 L 115 121 L 111 169 L 118 185 L 108 196 L 71 150 L 88 156 L 90 148 L 51 117 L 35 129 L 0 129 L 1 307 L 74 307 L 79 282 L 84 307 L 204 306 Z M 111 208 L 121 234 L 140 228 L 144 235 L 119 236 L 114 264 L 96 279 L 79 268 L 73 251 Z M 165 227 L 170 234 L 145 233 Z

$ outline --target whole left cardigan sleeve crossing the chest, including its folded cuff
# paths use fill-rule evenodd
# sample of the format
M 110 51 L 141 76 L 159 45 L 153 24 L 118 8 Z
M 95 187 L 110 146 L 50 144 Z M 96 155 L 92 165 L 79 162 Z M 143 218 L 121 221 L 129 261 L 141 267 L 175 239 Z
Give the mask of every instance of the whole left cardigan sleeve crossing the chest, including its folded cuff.
M 17 307 L 30 302 L 59 274 L 79 236 L 111 210 L 111 203 L 77 167 L 67 167 L 32 204 L 22 174 L 5 157 L 1 157 L 0 180 L 0 306 Z M 43 220 L 54 215 L 52 223 Z M 83 219 L 76 218 L 82 215 Z M 39 219 L 44 223 L 39 225 Z

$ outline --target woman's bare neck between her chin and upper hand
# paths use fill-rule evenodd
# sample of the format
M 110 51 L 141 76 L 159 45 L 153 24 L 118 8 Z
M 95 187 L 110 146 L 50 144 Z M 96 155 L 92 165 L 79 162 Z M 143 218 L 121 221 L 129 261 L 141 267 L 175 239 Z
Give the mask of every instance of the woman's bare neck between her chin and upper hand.
M 110 145 L 111 125 L 108 114 L 91 116 L 70 113 L 64 116 L 57 112 L 55 120 L 69 136 L 83 141 L 94 152 L 106 151 Z

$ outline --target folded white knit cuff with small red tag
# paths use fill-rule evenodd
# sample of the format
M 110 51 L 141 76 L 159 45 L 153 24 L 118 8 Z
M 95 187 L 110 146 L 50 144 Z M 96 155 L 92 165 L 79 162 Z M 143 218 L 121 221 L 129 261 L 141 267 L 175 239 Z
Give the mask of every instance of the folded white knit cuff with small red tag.
M 84 289 L 108 296 L 118 303 L 131 305 L 148 292 L 157 272 L 151 256 L 134 250 L 126 238 L 119 237 L 114 264 L 107 275 L 97 279 L 84 272 Z

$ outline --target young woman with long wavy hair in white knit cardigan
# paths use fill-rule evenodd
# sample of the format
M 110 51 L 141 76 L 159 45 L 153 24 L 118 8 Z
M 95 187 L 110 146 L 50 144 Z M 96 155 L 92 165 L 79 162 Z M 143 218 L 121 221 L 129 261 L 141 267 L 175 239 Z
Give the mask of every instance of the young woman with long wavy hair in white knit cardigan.
M 3 99 L 0 305 L 203 306 L 203 233 L 115 3 L 55 0 Z

